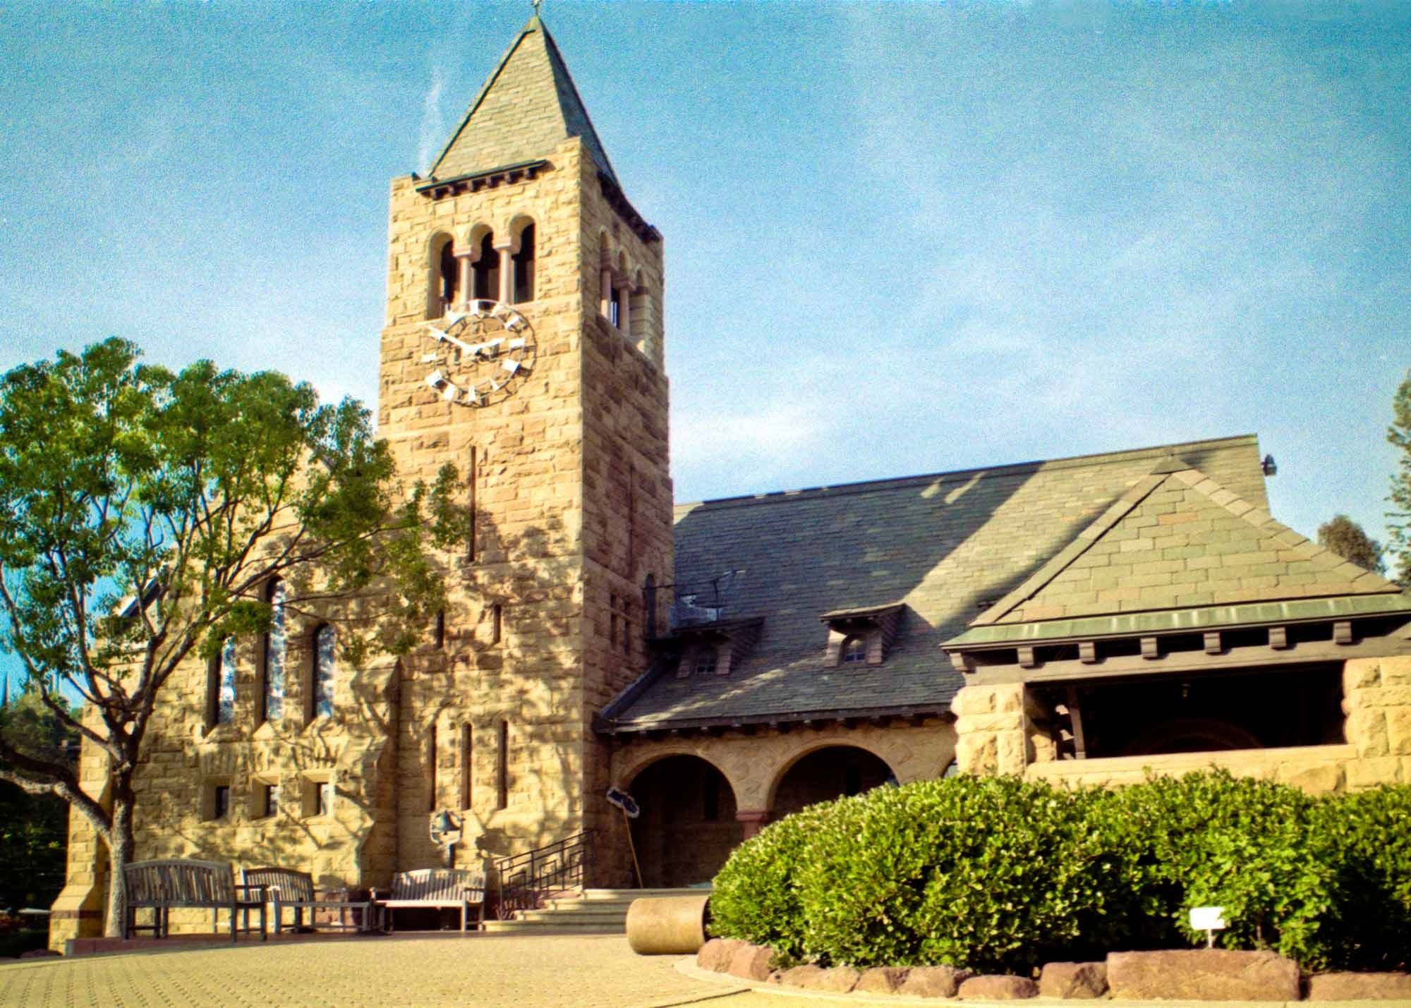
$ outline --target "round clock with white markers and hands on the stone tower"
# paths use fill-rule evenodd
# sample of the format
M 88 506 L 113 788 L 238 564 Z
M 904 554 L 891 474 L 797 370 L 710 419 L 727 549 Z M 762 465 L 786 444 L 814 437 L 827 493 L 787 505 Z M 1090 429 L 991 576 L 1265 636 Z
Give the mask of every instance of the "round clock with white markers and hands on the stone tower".
M 533 373 L 538 347 L 533 328 L 518 311 L 498 301 L 471 301 L 426 323 L 430 350 L 422 364 L 433 367 L 426 384 L 463 407 L 504 402 Z

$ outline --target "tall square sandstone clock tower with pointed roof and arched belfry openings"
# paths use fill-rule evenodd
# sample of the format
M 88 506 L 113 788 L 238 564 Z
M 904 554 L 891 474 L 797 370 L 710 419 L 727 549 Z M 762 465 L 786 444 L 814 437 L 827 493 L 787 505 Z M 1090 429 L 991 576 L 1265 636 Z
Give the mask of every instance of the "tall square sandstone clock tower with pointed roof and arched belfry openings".
M 538 17 L 429 178 L 392 182 L 388 263 L 380 435 L 408 484 L 456 466 L 473 542 L 402 665 L 384 870 L 443 861 L 443 809 L 459 867 L 610 844 L 593 717 L 645 666 L 672 569 L 662 237 Z

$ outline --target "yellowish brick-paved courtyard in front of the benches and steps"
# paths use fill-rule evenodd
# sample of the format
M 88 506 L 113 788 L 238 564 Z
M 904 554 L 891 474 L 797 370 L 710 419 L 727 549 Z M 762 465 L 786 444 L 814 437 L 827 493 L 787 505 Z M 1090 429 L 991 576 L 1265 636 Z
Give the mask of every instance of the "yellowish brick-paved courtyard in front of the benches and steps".
M 243 942 L 16 961 L 0 966 L 0 1005 L 665 1008 L 703 1002 L 763 1008 L 786 1001 L 690 980 L 674 970 L 677 959 L 636 956 L 619 935 Z

